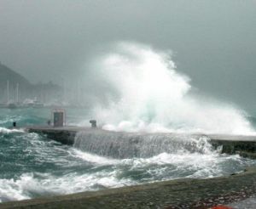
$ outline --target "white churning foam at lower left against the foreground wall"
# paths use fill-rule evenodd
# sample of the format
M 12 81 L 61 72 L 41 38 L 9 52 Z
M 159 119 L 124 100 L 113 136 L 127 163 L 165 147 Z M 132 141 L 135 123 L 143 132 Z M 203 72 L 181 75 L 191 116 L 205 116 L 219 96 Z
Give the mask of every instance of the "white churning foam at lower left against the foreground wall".
M 20 178 L 0 179 L 0 202 L 20 201 L 40 195 L 66 195 L 85 190 L 115 188 L 135 184 L 129 179 L 117 179 L 113 172 L 76 172 L 55 177 L 49 173 L 24 173 Z

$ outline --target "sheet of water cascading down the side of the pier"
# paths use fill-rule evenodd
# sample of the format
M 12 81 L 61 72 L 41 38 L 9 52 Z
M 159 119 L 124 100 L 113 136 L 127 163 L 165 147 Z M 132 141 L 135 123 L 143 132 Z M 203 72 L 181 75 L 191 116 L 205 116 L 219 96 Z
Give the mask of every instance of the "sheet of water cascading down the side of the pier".
M 151 157 L 161 153 L 214 153 L 209 138 L 176 133 L 80 132 L 73 146 L 96 155 L 113 158 Z

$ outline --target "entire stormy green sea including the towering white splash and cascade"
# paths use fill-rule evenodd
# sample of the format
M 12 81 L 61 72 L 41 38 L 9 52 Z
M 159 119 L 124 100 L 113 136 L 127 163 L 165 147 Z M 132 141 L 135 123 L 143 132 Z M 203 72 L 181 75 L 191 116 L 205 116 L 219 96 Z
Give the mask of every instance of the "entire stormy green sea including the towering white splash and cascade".
M 206 136 L 189 134 L 252 135 L 256 119 L 233 104 L 191 93 L 190 78 L 177 72 L 169 54 L 120 43 L 90 69 L 86 77 L 97 91 L 88 98 L 100 99 L 93 108 L 67 108 L 67 125 L 88 127 L 96 119 L 111 132 L 78 133 L 72 146 L 64 145 L 18 128 L 46 125 L 49 108 L 0 109 L 0 202 L 213 178 L 256 166 L 221 154 Z M 14 121 L 16 129 L 10 128 Z

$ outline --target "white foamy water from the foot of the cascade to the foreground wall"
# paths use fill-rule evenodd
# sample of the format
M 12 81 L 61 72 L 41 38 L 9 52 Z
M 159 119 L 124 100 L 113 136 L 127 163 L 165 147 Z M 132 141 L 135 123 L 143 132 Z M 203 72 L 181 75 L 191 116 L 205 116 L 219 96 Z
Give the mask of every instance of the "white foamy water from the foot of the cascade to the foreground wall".
M 213 151 L 207 154 L 182 151 L 176 154 L 161 153 L 149 158 L 124 160 L 113 160 L 75 149 L 70 150 L 69 154 L 79 160 L 91 162 L 94 165 L 92 170 L 86 168 L 89 170 L 64 172 L 61 176 L 48 172 L 27 172 L 20 178 L 0 179 L 0 202 L 30 199 L 41 195 L 66 195 L 167 179 L 211 178 L 223 175 L 225 163 L 244 163 L 239 155 L 220 155 Z M 108 167 L 105 167 L 106 165 Z M 134 178 L 132 173 L 141 173 L 142 177 Z

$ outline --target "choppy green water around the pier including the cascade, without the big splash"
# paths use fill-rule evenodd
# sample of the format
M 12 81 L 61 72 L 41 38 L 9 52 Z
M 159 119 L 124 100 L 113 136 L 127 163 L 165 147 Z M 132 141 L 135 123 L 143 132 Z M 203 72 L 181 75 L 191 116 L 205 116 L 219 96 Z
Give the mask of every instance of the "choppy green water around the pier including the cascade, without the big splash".
M 71 194 L 176 178 L 212 178 L 240 172 L 256 161 L 212 150 L 207 138 L 172 135 L 125 137 L 79 133 L 75 144 L 62 145 L 36 133 L 10 130 L 44 124 L 47 109 L 0 110 L 0 201 Z M 72 124 L 86 110 L 67 110 Z M 129 135 L 128 134 L 128 135 Z M 134 147 L 125 140 L 135 140 Z M 171 145 L 170 145 L 171 144 Z

